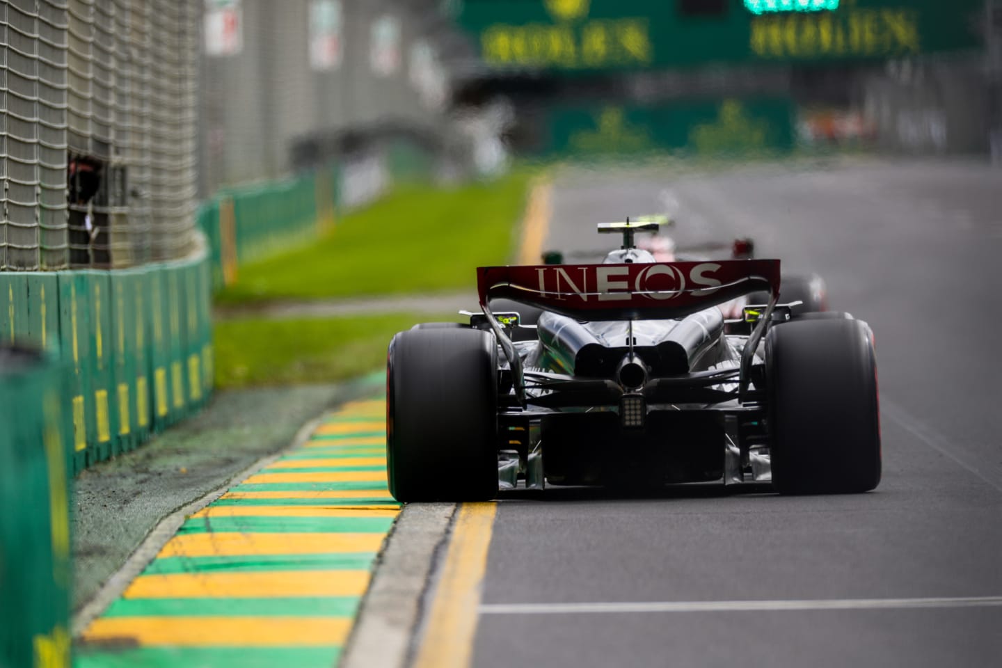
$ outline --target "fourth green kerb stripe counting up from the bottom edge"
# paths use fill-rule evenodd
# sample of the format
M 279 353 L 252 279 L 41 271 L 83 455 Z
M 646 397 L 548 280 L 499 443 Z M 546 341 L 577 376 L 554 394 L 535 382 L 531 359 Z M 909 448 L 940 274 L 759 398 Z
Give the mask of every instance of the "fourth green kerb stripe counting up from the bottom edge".
M 177 533 L 385 534 L 393 521 L 392 517 L 199 517 L 186 521 Z

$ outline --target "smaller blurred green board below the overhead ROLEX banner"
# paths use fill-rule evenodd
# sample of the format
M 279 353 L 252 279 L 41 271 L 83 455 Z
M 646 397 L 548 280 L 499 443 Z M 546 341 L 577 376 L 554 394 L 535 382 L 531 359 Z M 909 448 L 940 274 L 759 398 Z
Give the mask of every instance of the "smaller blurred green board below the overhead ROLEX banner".
M 782 151 L 793 147 L 794 116 L 789 98 L 560 106 L 550 111 L 539 152 L 588 158 L 651 151 L 693 155 Z

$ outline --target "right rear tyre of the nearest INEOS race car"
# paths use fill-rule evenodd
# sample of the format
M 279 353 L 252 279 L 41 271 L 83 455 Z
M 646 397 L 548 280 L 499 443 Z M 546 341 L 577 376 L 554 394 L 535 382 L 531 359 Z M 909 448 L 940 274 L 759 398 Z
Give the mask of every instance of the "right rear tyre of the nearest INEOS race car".
M 778 492 L 845 494 L 877 487 L 877 364 L 866 322 L 823 318 L 770 328 L 766 378 Z

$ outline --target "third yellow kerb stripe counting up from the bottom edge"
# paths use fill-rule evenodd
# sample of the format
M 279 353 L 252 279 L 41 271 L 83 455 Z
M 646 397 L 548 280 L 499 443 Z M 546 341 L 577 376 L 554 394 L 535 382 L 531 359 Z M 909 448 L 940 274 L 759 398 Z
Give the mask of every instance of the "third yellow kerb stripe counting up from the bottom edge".
M 334 552 L 379 552 L 383 534 L 179 534 L 157 558 L 311 555 Z

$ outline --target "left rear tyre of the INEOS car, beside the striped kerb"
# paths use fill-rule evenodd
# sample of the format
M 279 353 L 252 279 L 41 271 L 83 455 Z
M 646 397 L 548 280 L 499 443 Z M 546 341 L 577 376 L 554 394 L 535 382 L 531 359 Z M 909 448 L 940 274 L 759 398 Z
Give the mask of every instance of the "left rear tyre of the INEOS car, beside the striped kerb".
M 397 501 L 488 501 L 498 491 L 497 346 L 469 328 L 393 338 L 387 473 Z

